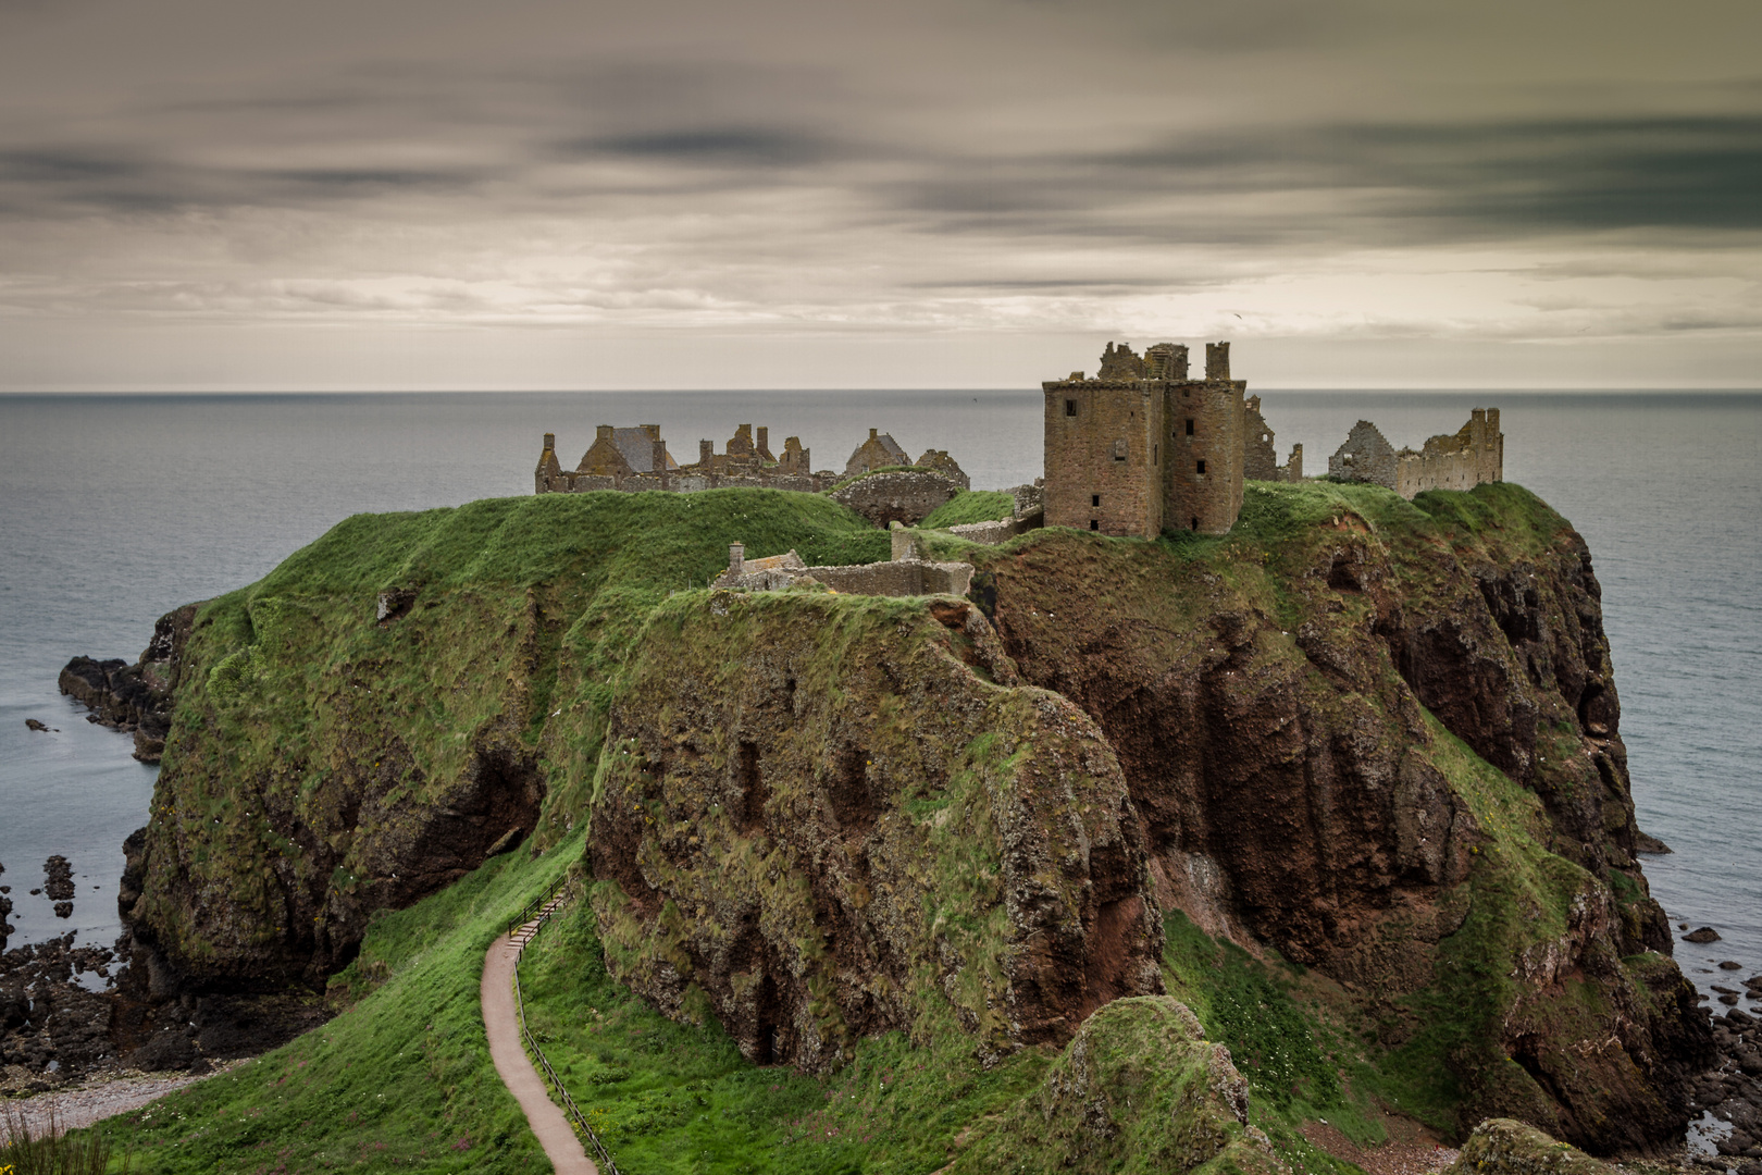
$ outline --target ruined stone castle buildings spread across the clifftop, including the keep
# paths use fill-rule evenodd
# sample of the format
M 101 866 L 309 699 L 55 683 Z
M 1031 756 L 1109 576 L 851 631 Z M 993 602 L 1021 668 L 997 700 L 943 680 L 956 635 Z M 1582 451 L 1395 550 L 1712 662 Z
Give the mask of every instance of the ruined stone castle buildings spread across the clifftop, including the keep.
M 1189 373 L 1186 345 L 1156 344 L 1140 356 L 1129 344 L 1110 342 L 1092 377 L 1071 372 L 1047 381 L 1041 391 L 1043 477 L 1017 488 L 1011 520 L 955 527 L 964 537 L 1001 543 L 1036 525 L 1144 539 L 1165 530 L 1226 534 L 1242 509 L 1244 483 L 1304 479 L 1302 446 L 1279 462 L 1260 396 L 1249 396 L 1246 381 L 1230 375 L 1226 342 L 1205 344 L 1202 379 Z M 1424 490 L 1503 481 L 1499 410 L 1475 409 L 1461 430 L 1433 437 L 1420 449 L 1396 449 L 1376 425 L 1359 421 L 1329 458 L 1329 476 L 1387 486 L 1408 499 Z M 673 460 L 657 425 L 601 425 L 573 470 L 557 460 L 555 433 L 544 433 L 534 481 L 537 493 L 721 486 L 832 491 L 881 527 L 913 525 L 971 488 L 946 451 L 929 449 L 913 462 L 892 435 L 876 428 L 837 474 L 814 472 L 796 437 L 774 454 L 768 430 L 754 432 L 751 425 L 742 425 L 722 453 L 701 440 L 692 465 Z M 911 543 L 895 548 L 904 551 L 895 562 L 913 560 Z M 802 567 L 800 560 L 781 555 L 747 560 L 737 553 L 724 578 L 763 587 L 812 571 L 828 569 Z M 922 578 L 893 576 L 900 583 Z

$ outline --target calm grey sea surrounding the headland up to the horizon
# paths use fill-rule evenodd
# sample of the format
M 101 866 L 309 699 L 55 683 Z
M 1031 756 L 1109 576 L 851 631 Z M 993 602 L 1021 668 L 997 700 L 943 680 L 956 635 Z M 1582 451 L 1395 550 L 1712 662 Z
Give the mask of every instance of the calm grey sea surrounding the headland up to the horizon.
M 1591 544 L 1614 643 L 1640 824 L 1677 946 L 1762 971 L 1762 393 L 1263 393 L 1283 453 L 1307 472 L 1353 421 L 1397 446 L 1503 410 L 1505 474 Z M 869 426 L 913 454 L 950 449 L 976 488 L 1040 474 L 1040 393 L 581 393 L 314 396 L 0 396 L 0 884 L 12 946 L 78 928 L 109 942 L 122 840 L 144 823 L 155 768 L 56 692 L 74 654 L 129 657 L 153 620 L 245 585 L 359 511 L 529 493 L 541 435 L 574 460 L 597 423 L 659 423 L 675 458 L 740 423 L 800 435 L 842 469 Z M 58 728 L 30 733 L 33 717 Z M 74 863 L 70 920 L 42 861 Z

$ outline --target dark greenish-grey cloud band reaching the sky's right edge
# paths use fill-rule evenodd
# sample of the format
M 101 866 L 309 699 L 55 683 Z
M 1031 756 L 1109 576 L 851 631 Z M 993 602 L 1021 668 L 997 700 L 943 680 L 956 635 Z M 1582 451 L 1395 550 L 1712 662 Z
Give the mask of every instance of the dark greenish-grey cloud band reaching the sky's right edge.
M 1163 243 L 1429 243 L 1609 229 L 1762 229 L 1762 118 L 1339 123 L 925 167 L 936 233 Z M 1256 211 L 1255 197 L 1281 199 Z M 1295 206 L 1293 206 L 1295 204 Z M 1193 210 L 1203 208 L 1203 215 Z

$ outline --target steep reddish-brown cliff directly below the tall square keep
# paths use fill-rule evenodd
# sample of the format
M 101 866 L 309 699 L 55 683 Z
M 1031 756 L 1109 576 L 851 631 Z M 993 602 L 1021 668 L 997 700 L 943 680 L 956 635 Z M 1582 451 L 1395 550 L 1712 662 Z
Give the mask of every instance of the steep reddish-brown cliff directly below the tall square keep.
M 1679 1129 L 1706 1029 L 1647 953 L 1669 934 L 1565 520 L 1515 486 L 1255 488 L 1226 543 L 1048 532 L 985 567 L 1022 676 L 1114 747 L 1161 904 L 1350 985 L 1390 1046 L 1431 1036 L 1466 1120 L 1605 1150 Z

